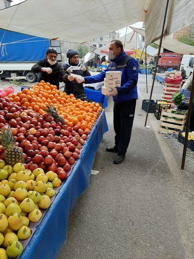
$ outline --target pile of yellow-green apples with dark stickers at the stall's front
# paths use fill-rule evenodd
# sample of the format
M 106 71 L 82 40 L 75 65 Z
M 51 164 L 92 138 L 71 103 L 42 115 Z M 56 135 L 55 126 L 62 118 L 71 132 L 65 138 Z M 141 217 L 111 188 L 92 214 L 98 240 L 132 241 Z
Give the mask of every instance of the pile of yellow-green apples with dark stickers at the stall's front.
M 23 251 L 19 240 L 31 235 L 29 222 L 38 222 L 51 205 L 55 195 L 53 187 L 62 184 L 52 171 L 41 168 L 31 172 L 22 163 L 14 167 L 0 160 L 0 258 L 17 257 Z M 5 249 L 6 250 L 5 250 Z

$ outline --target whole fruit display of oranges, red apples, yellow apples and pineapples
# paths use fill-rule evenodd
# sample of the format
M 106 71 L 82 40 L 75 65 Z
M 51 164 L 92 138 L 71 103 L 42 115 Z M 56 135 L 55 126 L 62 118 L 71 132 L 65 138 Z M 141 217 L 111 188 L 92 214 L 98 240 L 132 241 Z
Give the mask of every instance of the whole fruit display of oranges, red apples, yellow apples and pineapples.
M 0 98 L 0 258 L 22 253 L 101 110 L 44 81 Z

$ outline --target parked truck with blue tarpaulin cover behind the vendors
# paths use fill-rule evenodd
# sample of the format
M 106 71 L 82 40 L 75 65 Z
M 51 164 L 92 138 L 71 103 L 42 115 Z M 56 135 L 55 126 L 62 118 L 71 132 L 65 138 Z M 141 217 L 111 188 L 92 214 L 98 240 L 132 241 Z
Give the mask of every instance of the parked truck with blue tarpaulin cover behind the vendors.
M 0 46 L 1 79 L 25 76 L 28 82 L 36 82 L 38 74 L 32 73 L 31 67 L 45 58 L 49 47 L 57 49 L 57 60 L 62 61 L 60 41 L 0 29 L 0 39 L 2 37 L 5 45 Z

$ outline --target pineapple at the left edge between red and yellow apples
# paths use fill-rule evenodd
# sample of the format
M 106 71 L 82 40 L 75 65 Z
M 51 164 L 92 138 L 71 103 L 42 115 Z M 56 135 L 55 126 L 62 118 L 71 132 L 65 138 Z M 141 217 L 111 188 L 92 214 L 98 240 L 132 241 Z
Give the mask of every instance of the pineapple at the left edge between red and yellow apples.
M 23 163 L 24 157 L 22 151 L 18 146 L 15 146 L 15 140 L 11 133 L 10 127 L 7 130 L 2 131 L 2 135 L 0 135 L 0 140 L 2 146 L 5 148 L 4 157 L 5 161 L 10 166 L 14 166 L 16 163 Z

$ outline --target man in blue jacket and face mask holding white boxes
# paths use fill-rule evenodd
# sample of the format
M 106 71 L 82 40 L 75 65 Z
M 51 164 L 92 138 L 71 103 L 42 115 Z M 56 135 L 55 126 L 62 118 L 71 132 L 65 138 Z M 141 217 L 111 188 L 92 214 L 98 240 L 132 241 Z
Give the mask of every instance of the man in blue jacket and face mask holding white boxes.
M 107 147 L 106 151 L 118 153 L 114 163 L 119 164 L 125 159 L 125 153 L 129 146 L 138 81 L 138 62 L 123 51 L 122 42 L 113 40 L 109 45 L 109 59 L 111 63 L 108 68 L 98 75 L 87 76 L 78 82 L 97 83 L 104 81 L 106 71 L 122 71 L 121 87 L 112 88 L 109 96 L 113 96 L 113 124 L 115 130 L 115 146 Z

